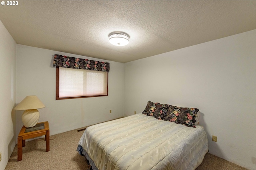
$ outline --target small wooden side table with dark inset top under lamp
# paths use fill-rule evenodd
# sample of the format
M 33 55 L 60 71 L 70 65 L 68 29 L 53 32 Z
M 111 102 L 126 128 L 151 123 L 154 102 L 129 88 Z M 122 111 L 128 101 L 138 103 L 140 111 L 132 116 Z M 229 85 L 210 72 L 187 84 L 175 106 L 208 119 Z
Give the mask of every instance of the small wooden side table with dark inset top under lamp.
M 45 135 L 46 152 L 50 150 L 50 130 L 48 121 L 37 123 L 36 126 L 26 128 L 23 126 L 18 135 L 18 161 L 22 160 L 22 147 L 25 147 L 25 140 Z

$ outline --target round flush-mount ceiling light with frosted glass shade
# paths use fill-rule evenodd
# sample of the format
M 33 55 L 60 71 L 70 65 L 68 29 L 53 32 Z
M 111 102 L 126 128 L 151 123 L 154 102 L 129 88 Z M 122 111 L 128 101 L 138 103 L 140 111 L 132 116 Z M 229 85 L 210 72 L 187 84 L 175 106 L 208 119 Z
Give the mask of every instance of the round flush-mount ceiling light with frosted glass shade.
M 124 46 L 129 43 L 129 35 L 124 32 L 115 31 L 108 35 L 109 42 L 116 46 Z

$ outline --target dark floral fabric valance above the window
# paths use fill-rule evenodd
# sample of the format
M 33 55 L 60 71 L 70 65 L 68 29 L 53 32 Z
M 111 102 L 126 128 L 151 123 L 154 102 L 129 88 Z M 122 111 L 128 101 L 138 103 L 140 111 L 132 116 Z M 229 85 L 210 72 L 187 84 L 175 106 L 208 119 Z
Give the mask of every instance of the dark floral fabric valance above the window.
M 109 72 L 109 63 L 58 54 L 54 55 L 53 66 Z

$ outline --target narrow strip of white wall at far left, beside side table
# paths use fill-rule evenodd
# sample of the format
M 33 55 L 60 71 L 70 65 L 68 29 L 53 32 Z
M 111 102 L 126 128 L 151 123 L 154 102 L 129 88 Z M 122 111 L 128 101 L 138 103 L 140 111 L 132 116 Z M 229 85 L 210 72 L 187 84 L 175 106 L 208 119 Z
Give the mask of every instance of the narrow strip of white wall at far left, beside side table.
M 0 21 L 0 170 L 15 147 L 16 42 Z

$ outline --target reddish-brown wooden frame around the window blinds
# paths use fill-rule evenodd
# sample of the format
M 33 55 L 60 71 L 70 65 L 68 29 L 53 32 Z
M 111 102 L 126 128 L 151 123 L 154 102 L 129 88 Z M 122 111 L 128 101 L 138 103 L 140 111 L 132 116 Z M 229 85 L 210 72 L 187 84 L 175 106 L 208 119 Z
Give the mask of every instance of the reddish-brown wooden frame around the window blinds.
M 77 99 L 77 98 L 92 98 L 92 97 L 101 97 L 101 96 L 108 96 L 108 72 L 107 72 L 107 94 L 104 94 L 104 95 L 94 95 L 94 96 L 76 96 L 76 97 L 59 98 L 59 67 L 56 66 L 56 100 Z

